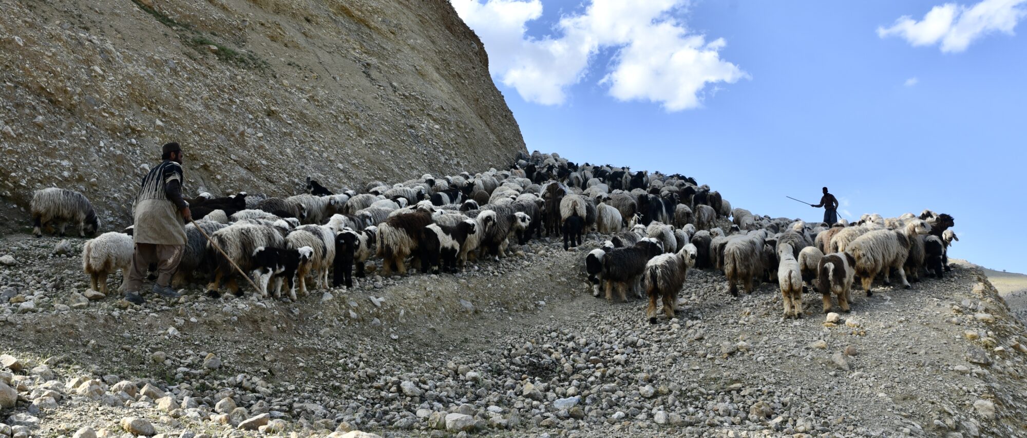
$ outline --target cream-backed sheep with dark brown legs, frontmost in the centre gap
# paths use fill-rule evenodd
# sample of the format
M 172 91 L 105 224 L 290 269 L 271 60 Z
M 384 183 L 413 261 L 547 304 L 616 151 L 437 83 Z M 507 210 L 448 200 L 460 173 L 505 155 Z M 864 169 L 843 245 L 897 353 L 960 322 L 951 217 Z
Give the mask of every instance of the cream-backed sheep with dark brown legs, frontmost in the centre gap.
M 646 263 L 642 279 L 645 282 L 646 294 L 649 295 L 649 307 L 646 309 L 649 324 L 656 324 L 656 299 L 660 297 L 667 319 L 674 318 L 678 305 L 678 292 L 688 278 L 688 269 L 695 266 L 696 256 L 695 246 L 688 244 L 677 254 L 658 255 Z

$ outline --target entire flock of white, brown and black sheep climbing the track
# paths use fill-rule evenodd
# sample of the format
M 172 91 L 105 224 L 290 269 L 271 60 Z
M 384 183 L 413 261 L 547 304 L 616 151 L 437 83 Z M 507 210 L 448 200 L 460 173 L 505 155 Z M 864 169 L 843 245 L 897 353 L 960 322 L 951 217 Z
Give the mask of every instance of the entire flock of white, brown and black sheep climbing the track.
M 626 168 L 581 166 L 557 154 L 520 154 L 509 170 L 421 178 L 398 184 L 375 181 L 363 193 L 333 193 L 307 179 L 306 193 L 268 197 L 238 192 L 201 193 L 188 199 L 195 223 L 186 225 L 185 254 L 173 286 L 210 281 L 207 293 L 240 294 L 235 266 L 252 272 L 258 293 L 291 299 L 315 288 L 352 287 L 352 276 L 380 257 L 384 275 L 457 271 L 468 260 L 498 260 L 511 240 L 563 236 L 564 248 L 597 231 L 606 240 L 585 257 L 596 296 L 616 289 L 648 295 L 647 317 L 656 322 L 657 301 L 673 318 L 677 294 L 690 268 L 716 269 L 729 291 L 752 292 L 759 282 L 776 282 L 785 316 L 802 315 L 801 294 L 821 292 L 824 312 L 837 296 L 849 311 L 855 278 L 867 295 L 877 276 L 889 284 L 893 269 L 903 286 L 921 275 L 942 277 L 955 233 L 951 216 L 928 210 L 899 218 L 864 215 L 860 221 L 808 224 L 755 216 L 707 185 L 681 175 L 631 172 Z M 34 233 L 56 225 L 63 235 L 76 223 L 80 235 L 100 228 L 80 193 L 48 188 L 32 199 Z M 732 219 L 725 231 L 716 220 Z M 132 254 L 131 227 L 86 243 L 83 269 L 94 290 L 107 293 L 107 276 L 126 272 Z M 205 235 L 210 235 L 207 241 Z M 233 266 L 234 265 L 234 266 Z M 273 282 L 273 286 L 272 286 Z M 269 290 L 270 289 L 270 290 Z

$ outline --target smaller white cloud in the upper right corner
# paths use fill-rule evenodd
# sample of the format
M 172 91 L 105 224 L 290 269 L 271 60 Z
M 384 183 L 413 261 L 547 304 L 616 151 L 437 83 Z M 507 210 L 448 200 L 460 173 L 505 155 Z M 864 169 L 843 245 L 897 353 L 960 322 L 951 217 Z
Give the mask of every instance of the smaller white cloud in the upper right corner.
M 899 36 L 914 46 L 941 43 L 944 52 L 959 52 L 974 40 L 994 32 L 1013 35 L 1013 28 L 1027 16 L 1027 0 L 983 0 L 973 6 L 945 3 L 933 7 L 917 22 L 903 15 L 877 36 Z

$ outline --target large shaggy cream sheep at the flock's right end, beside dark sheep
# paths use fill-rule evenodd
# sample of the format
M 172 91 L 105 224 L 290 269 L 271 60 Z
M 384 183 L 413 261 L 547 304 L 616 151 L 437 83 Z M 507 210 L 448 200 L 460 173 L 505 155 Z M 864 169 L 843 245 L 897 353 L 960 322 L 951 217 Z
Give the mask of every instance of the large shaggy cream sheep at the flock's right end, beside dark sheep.
M 889 268 L 899 269 L 903 287 L 906 289 L 912 287 L 906 280 L 903 265 L 906 263 L 906 257 L 909 256 L 912 240 L 929 231 L 930 225 L 927 225 L 927 222 L 916 219 L 907 223 L 902 230 L 876 229 L 857 238 L 848 245 L 845 252 L 851 254 L 852 258 L 855 259 L 855 273 L 860 276 L 867 296 L 873 295 L 870 289 L 878 273 L 884 275 L 885 285 L 890 284 L 888 280 Z

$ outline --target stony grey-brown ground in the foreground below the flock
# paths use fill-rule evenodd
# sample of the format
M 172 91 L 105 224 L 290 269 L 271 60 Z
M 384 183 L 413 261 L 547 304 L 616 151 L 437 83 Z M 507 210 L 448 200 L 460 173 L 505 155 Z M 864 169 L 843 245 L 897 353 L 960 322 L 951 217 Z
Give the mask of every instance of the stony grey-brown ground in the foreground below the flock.
M 732 300 L 694 270 L 650 325 L 643 300 L 592 296 L 595 242 L 295 303 L 197 286 L 141 306 L 79 296 L 81 242 L 3 242 L 0 437 L 1027 435 L 1027 332 L 966 264 L 851 314 L 806 295 L 800 320 L 771 285 Z

